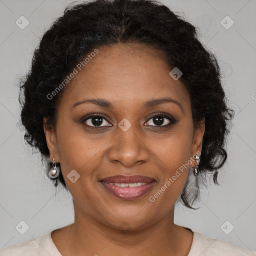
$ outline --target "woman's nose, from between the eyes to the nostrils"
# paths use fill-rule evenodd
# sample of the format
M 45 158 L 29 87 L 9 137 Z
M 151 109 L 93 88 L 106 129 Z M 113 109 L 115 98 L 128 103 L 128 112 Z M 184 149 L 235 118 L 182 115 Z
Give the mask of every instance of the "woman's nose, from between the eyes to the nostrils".
M 125 167 L 147 162 L 150 149 L 146 145 L 146 136 L 146 134 L 142 135 L 135 125 L 131 125 L 126 131 L 117 127 L 108 150 L 109 161 L 120 163 Z

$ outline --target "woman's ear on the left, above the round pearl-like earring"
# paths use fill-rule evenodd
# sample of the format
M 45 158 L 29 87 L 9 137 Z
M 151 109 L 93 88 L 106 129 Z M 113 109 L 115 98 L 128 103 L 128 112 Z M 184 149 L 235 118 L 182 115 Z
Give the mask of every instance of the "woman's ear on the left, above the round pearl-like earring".
M 47 118 L 43 117 L 43 130 L 46 138 L 47 147 L 50 153 L 50 160 L 52 161 L 52 157 L 54 157 L 54 161 L 56 163 L 59 162 L 59 156 L 56 146 L 56 134 L 52 127 L 47 125 Z

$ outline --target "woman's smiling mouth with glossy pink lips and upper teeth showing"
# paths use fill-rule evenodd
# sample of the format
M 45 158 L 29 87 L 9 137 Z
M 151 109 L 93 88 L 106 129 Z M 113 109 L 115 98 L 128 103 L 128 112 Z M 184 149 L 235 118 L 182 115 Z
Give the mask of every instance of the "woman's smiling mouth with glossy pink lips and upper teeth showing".
M 100 180 L 104 188 L 121 199 L 135 199 L 149 192 L 156 180 L 141 175 L 116 175 Z

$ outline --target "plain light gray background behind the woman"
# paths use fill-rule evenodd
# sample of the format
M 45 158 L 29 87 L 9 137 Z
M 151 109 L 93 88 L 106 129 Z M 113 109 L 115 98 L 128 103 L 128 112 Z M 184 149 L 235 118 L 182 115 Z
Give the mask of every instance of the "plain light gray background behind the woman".
M 30 66 L 43 31 L 62 15 L 67 0 L 0 0 L 0 248 L 39 237 L 73 222 L 72 200 L 63 188 L 56 192 L 44 176 L 40 157 L 31 154 L 19 128 L 18 77 Z M 182 205 L 174 222 L 211 238 L 256 251 L 256 1 L 165 0 L 176 14 L 200 29 L 200 41 L 217 56 L 223 87 L 235 110 L 227 144 L 228 159 L 220 170 L 220 186 L 202 190 L 198 210 Z M 25 16 L 20 29 L 15 21 Z M 234 24 L 226 29 L 226 16 Z M 227 21 L 228 23 L 229 21 Z M 229 23 L 228 23 L 229 24 Z M 22 235 L 15 226 L 25 221 Z M 225 221 L 226 234 L 221 226 Z

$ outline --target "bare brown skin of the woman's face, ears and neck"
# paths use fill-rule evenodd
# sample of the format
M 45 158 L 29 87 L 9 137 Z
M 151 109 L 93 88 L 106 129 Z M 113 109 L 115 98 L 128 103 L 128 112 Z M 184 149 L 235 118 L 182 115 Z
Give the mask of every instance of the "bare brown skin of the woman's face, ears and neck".
M 74 223 L 51 233 L 52 240 L 63 256 L 186 256 L 193 236 L 174 224 L 173 217 L 188 167 L 154 202 L 148 198 L 201 152 L 204 120 L 198 128 L 193 127 L 189 94 L 181 81 L 169 75 L 172 68 L 161 50 L 138 43 L 118 43 L 98 50 L 62 91 L 56 130 L 46 127 L 44 119 L 50 159 L 54 156 L 61 164 L 75 216 Z M 142 102 L 166 96 L 178 101 L 183 110 L 172 102 L 142 107 Z M 72 107 L 85 98 L 104 98 L 114 107 L 90 102 Z M 177 122 L 161 128 L 171 121 L 164 117 L 164 122 L 157 124 L 149 115 L 158 112 Z M 94 113 L 108 117 L 99 123 L 101 128 L 95 128 L 92 119 L 79 123 Z M 118 126 L 123 118 L 131 124 L 126 131 Z M 189 165 L 194 167 L 196 162 Z M 72 169 L 80 175 L 75 182 L 67 178 Z M 156 183 L 143 196 L 124 200 L 99 182 L 117 174 L 145 175 Z

